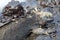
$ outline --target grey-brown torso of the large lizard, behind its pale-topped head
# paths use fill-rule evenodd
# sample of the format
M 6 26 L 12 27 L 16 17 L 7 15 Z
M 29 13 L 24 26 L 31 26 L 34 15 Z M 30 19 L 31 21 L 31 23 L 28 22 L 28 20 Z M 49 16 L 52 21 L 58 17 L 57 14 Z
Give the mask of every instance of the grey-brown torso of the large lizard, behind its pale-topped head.
M 35 21 L 33 19 L 22 19 L 16 24 L 12 22 L 0 29 L 0 40 L 23 40 L 30 31 Z

